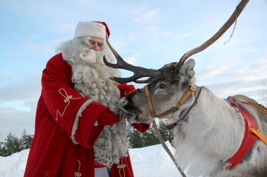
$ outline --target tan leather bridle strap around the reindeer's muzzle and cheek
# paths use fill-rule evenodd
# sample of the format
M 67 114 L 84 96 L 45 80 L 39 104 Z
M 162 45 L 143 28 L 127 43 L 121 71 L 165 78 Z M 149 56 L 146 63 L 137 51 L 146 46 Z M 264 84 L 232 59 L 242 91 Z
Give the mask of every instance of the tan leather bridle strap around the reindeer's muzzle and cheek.
M 183 97 L 175 104 L 175 106 L 171 109 L 169 109 L 168 111 L 160 114 L 160 115 L 156 115 L 155 114 L 155 111 L 154 111 L 154 108 L 153 108 L 153 105 L 152 105 L 152 102 L 151 102 L 151 99 L 150 99 L 150 95 L 149 95 L 149 90 L 148 90 L 148 85 L 144 86 L 144 90 L 145 90 L 145 95 L 146 95 L 146 98 L 147 98 L 147 105 L 148 105 L 148 108 L 150 110 L 150 114 L 152 117 L 158 117 L 158 118 L 161 118 L 161 117 L 164 117 L 164 116 L 167 116 L 168 114 L 174 112 L 174 111 L 177 111 L 179 110 L 179 108 L 185 103 L 185 101 L 192 95 L 192 93 L 196 90 L 196 85 L 191 85 L 191 87 L 187 90 L 187 92 L 185 93 L 185 95 L 183 95 Z

